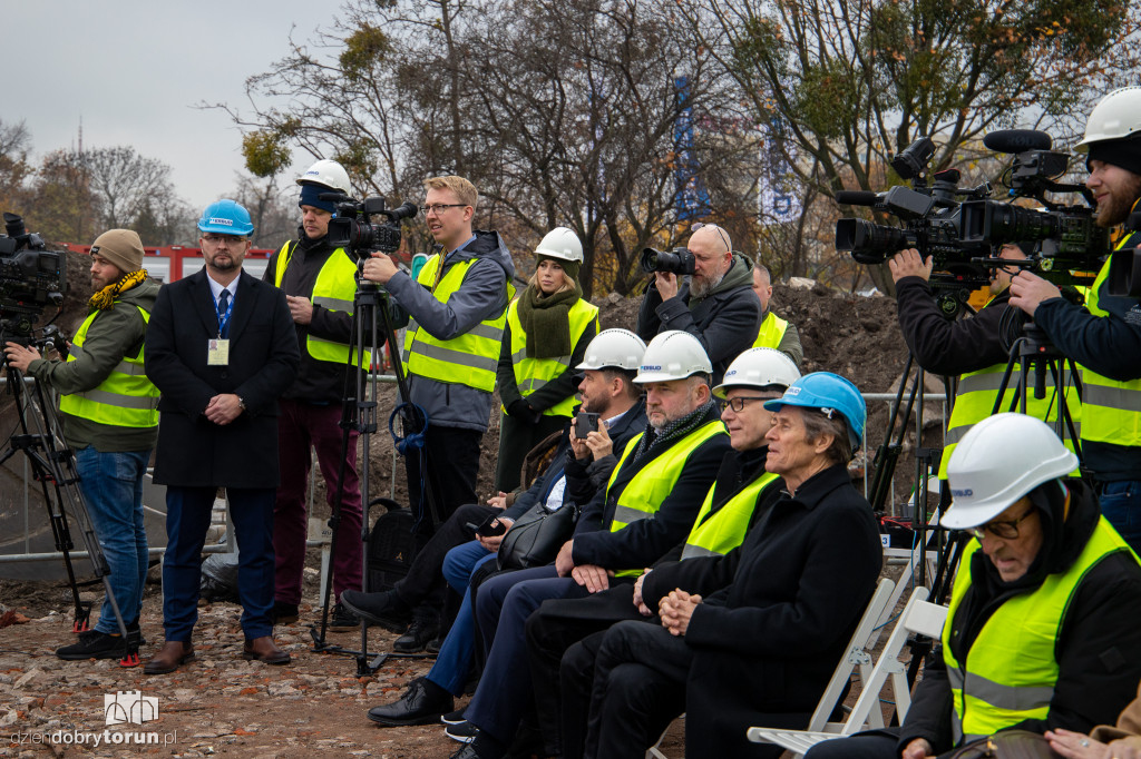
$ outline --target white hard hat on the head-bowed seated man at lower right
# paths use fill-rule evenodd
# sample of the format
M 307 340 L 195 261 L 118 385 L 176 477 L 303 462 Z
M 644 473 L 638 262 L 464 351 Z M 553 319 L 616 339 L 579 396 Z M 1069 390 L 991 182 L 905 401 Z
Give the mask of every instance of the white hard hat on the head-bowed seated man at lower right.
M 947 462 L 953 503 L 941 524 L 953 530 L 985 524 L 1077 465 L 1045 422 L 1025 414 L 987 417 L 966 431 Z

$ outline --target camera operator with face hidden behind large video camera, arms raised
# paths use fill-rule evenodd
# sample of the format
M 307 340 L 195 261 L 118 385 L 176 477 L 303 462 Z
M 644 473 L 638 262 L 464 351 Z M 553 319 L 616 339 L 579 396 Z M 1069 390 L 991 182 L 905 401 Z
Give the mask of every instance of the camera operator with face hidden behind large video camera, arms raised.
M 1023 260 L 1026 253 L 1018 245 L 1008 243 L 998 253 L 1000 259 Z M 946 376 L 962 375 L 955 394 L 955 406 L 947 422 L 946 448 L 939 476 L 946 479 L 950 452 L 966 431 L 976 423 L 990 416 L 998 393 L 998 381 L 1006 370 L 1009 353 L 1000 333 L 1000 320 L 1010 302 L 1012 269 L 995 268 L 990 271 L 990 300 L 974 316 L 968 319 L 948 320 L 936 304 L 928 280 L 931 278 L 931 259 L 923 260 L 919 251 L 900 251 L 888 261 L 891 278 L 896 283 L 896 303 L 899 310 L 899 328 L 904 341 L 915 360 L 926 372 Z M 1011 373 L 1003 409 L 1014 398 L 1019 382 L 1018 367 Z M 1053 398 L 1053 381 L 1047 377 L 1047 393 L 1044 399 L 1033 394 L 1027 398 L 1026 411 L 1029 416 L 1052 422 L 1057 418 L 1057 400 Z M 1077 418 L 1077 393 L 1067 390 L 1070 414 Z M 1068 441 L 1067 441 L 1068 442 Z

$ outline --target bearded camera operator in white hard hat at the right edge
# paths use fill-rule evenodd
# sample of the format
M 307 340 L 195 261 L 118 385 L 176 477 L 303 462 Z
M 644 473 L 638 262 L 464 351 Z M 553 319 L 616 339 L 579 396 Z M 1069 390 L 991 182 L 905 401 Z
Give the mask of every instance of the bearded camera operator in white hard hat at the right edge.
M 1094 107 L 1077 150 L 1098 199 L 1097 222 L 1115 229 L 1114 250 L 1141 244 L 1125 225 L 1141 198 L 1141 87 L 1126 87 Z M 1026 311 L 1068 358 L 1082 365 L 1082 454 L 1093 472 L 1101 511 L 1133 550 L 1141 550 L 1141 301 L 1109 294 L 1109 260 L 1085 308 L 1045 279 L 1020 272 L 1011 304 Z

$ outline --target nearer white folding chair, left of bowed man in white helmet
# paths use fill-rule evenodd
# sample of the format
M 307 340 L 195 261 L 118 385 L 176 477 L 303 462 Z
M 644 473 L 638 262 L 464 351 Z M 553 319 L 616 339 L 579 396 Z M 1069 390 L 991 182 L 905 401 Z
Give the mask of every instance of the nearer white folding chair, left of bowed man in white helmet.
M 775 743 L 792 751 L 798 759 L 817 743 L 837 737 L 847 737 L 869 727 L 883 727 L 883 712 L 880 708 L 880 693 L 883 686 L 891 682 L 891 691 L 896 697 L 896 710 L 900 721 L 912 705 L 912 694 L 907 687 L 907 666 L 899 661 L 899 654 L 907 643 L 909 632 L 917 632 L 931 638 L 938 638 L 947 619 L 947 609 L 926 603 L 928 589 L 915 588 L 907 606 L 900 614 L 899 622 L 891 631 L 891 637 L 884 645 L 880 661 L 872 670 L 871 677 L 861 676 L 861 689 L 851 715 L 843 724 L 830 723 L 823 731 L 784 731 L 766 727 L 748 728 L 748 740 L 754 743 Z M 816 715 L 814 715 L 814 718 Z M 836 729 L 839 728 L 839 729 Z

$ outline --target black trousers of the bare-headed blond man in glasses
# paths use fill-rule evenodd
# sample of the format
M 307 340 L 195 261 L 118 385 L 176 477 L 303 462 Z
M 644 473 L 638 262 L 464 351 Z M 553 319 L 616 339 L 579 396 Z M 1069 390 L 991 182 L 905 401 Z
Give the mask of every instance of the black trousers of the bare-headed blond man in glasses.
M 476 475 L 479 473 L 478 430 L 435 427 L 424 433 L 424 447 L 404 457 L 408 476 L 408 508 L 416 517 L 416 550 L 428 545 L 436 531 L 431 509 L 424 500 L 424 482 L 430 482 L 436 517 L 443 525 L 462 504 L 476 504 Z M 470 537 L 470 536 L 469 536 Z

